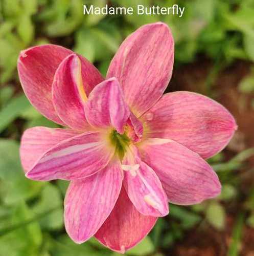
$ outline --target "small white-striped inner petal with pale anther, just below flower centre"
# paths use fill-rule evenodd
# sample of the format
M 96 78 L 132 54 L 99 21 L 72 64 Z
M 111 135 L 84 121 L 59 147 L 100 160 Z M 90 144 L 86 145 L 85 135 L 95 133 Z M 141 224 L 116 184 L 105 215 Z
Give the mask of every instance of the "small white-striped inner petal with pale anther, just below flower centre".
M 153 169 L 137 156 L 135 147 L 123 159 L 124 186 L 136 209 L 143 215 L 162 217 L 169 213 L 167 195 Z

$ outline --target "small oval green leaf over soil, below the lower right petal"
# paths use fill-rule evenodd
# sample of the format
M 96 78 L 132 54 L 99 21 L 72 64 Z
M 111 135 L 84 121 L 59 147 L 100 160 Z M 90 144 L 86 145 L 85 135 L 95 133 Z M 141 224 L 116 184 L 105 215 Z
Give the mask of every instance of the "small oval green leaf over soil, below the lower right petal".
M 218 230 L 225 226 L 225 210 L 218 202 L 211 202 L 206 209 L 206 220 Z

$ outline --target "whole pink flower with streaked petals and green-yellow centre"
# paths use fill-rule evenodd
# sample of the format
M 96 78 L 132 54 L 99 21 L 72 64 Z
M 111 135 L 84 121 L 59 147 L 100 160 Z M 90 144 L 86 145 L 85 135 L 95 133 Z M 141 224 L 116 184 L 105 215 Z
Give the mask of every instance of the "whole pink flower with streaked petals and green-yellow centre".
M 22 166 L 32 180 L 71 180 L 64 219 L 76 243 L 95 236 L 123 253 L 168 214 L 168 202 L 196 204 L 220 193 L 204 159 L 225 147 L 236 122 L 205 96 L 163 95 L 173 58 L 173 37 L 163 23 L 128 36 L 106 80 L 84 57 L 60 46 L 20 53 L 27 97 L 41 114 L 69 127 L 28 129 Z

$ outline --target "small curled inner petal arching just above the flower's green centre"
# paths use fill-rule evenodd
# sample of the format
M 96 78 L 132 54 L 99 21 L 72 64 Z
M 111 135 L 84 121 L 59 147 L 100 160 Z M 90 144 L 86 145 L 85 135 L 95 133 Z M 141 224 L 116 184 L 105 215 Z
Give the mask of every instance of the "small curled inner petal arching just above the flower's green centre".
M 91 91 L 85 105 L 85 115 L 88 122 L 95 127 L 112 126 L 119 133 L 124 133 L 130 111 L 116 78 L 101 82 Z

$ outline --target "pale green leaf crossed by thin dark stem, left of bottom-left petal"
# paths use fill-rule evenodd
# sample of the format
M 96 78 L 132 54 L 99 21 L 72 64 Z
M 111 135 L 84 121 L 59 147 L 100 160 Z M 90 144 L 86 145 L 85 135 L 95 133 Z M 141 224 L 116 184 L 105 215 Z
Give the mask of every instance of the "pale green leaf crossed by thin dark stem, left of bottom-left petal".
M 43 229 L 61 229 L 63 227 L 62 197 L 57 186 L 50 183 L 45 185 L 41 191 L 40 200 L 33 207 L 34 215 L 39 215 L 50 209 L 59 207 L 51 214 L 40 219 L 39 223 Z

